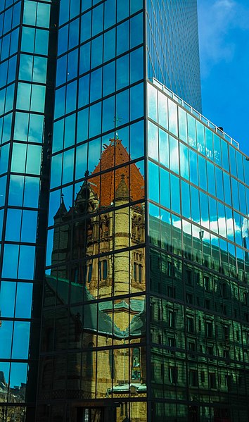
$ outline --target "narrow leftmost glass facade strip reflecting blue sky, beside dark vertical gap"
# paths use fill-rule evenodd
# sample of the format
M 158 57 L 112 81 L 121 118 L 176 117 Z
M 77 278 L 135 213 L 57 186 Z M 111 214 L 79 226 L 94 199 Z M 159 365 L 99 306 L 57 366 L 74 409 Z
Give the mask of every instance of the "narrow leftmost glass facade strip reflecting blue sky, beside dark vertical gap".
M 50 1 L 3 0 L 0 5 L 1 421 L 34 421 L 50 11 Z

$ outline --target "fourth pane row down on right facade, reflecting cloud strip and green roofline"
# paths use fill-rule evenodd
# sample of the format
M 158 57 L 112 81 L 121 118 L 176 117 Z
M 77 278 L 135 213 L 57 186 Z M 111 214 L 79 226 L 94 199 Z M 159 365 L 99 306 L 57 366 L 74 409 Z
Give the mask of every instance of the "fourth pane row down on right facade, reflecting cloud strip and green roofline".
M 153 204 L 149 212 L 151 244 L 245 282 L 248 249 L 235 247 Z M 247 244 L 248 237 L 243 239 Z

